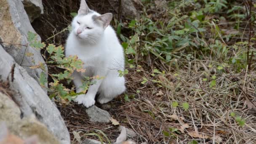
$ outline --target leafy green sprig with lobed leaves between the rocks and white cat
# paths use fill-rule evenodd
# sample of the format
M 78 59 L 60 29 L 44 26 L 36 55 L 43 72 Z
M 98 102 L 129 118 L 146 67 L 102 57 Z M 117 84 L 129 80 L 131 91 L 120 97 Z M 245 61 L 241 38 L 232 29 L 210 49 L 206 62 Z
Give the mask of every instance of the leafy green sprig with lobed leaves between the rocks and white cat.
M 28 32 L 28 41 L 30 43 L 30 46 L 37 48 L 37 49 L 43 49 L 45 48 L 47 54 L 49 55 L 48 58 L 45 60 L 45 63 L 40 63 L 34 66 L 31 66 L 31 69 L 42 69 L 44 70 L 44 66 L 47 65 L 48 67 L 56 67 L 58 69 L 63 69 L 63 72 L 50 74 L 42 72 L 40 74 L 40 85 L 45 87 L 45 84 L 49 84 L 48 87 L 48 93 L 51 98 L 56 97 L 57 99 L 61 99 L 62 102 L 65 101 L 71 101 L 75 98 L 75 96 L 79 94 L 83 94 L 87 91 L 88 87 L 93 84 L 93 79 L 99 78 L 99 77 L 85 77 L 85 81 L 83 83 L 83 86 L 81 87 L 83 89 L 80 93 L 75 93 L 75 90 L 69 89 L 66 86 L 61 83 L 61 81 L 67 81 L 67 83 L 70 83 L 72 81 L 72 73 L 74 71 L 77 72 L 85 72 L 85 69 L 83 69 L 83 61 L 78 59 L 77 56 L 64 56 L 64 48 L 60 46 L 56 46 L 53 44 L 49 44 L 46 46 L 44 43 L 41 43 L 40 41 L 36 40 L 36 34 L 32 32 Z M 28 56 L 28 55 L 27 55 Z M 44 56 L 46 58 L 46 56 Z M 50 76 L 53 80 L 53 82 L 48 83 L 47 75 Z

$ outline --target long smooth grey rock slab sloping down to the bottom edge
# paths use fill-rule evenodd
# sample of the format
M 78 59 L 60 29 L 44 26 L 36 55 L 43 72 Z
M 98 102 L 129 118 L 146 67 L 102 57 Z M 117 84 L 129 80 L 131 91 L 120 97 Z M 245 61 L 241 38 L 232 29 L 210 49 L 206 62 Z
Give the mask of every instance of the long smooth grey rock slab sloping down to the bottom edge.
M 27 71 L 19 66 L 0 45 L 0 77 L 8 80 L 16 101 L 24 117 L 35 115 L 45 124 L 61 144 L 70 144 L 69 132 L 59 110 L 51 102 L 45 91 Z

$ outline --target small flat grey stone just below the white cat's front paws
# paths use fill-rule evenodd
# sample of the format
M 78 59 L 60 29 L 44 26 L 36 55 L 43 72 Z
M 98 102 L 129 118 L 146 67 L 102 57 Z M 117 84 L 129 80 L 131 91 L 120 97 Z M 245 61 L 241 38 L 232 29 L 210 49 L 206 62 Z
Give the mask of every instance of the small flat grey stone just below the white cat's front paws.
M 99 123 L 109 123 L 111 116 L 109 112 L 96 107 L 95 105 L 86 109 L 87 115 L 90 117 L 90 121 L 99 122 Z

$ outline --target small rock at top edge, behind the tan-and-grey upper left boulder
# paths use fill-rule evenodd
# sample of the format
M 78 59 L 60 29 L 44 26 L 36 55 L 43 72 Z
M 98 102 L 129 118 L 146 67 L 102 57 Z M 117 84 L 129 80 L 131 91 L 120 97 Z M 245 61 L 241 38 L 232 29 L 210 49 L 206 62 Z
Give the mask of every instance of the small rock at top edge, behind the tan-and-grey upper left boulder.
M 24 8 L 29 16 L 29 21 L 34 21 L 35 18 L 43 14 L 42 0 L 21 0 Z

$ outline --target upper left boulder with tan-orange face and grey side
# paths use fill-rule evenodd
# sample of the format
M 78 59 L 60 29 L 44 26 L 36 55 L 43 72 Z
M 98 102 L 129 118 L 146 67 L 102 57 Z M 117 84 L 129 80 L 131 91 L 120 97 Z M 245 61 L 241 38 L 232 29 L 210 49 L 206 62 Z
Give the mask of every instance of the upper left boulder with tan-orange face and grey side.
M 30 69 L 28 66 L 44 63 L 44 60 L 40 50 L 28 45 L 27 33 L 36 32 L 29 22 L 24 6 L 21 0 L 1 0 L 0 3 L 0 44 L 31 77 L 39 82 L 42 70 Z M 39 36 L 38 40 L 41 40 Z M 27 56 L 26 53 L 33 56 Z M 46 65 L 44 68 L 47 72 Z

